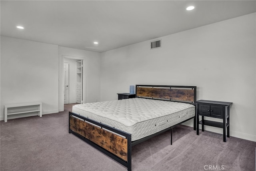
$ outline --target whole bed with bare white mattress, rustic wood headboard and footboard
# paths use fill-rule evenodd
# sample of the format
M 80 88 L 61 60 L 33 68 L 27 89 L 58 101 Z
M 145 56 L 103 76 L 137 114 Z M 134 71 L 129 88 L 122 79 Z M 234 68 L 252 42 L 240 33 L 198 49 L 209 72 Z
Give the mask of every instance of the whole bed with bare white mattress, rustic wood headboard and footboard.
M 136 98 L 74 105 L 72 133 L 132 170 L 132 146 L 194 119 L 196 86 L 136 85 Z

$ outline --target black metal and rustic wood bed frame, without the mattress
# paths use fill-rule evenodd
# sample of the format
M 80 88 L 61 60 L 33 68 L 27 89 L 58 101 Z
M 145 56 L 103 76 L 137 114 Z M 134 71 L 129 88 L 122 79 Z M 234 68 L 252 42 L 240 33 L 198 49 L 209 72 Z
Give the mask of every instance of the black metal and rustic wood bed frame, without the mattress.
M 173 86 L 173 85 L 136 85 L 136 97 L 149 98 L 165 101 L 177 101 L 190 103 L 196 106 L 196 86 Z M 196 111 L 196 110 L 195 110 Z M 69 112 L 69 133 L 72 133 L 89 143 L 96 149 L 102 151 L 112 159 L 127 167 L 128 171 L 132 170 L 132 146 L 146 141 L 164 131 L 194 118 L 194 130 L 196 130 L 196 113 L 194 117 L 186 119 L 167 129 L 149 135 L 142 139 L 132 141 L 129 133 L 120 131 L 114 127 L 83 117 L 73 112 Z

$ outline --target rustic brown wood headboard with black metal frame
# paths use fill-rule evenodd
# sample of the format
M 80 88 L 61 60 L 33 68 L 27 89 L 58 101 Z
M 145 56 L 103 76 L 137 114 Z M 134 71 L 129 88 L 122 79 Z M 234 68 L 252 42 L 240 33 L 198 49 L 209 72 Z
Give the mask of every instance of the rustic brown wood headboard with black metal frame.
M 196 103 L 196 86 L 136 85 L 136 97 Z

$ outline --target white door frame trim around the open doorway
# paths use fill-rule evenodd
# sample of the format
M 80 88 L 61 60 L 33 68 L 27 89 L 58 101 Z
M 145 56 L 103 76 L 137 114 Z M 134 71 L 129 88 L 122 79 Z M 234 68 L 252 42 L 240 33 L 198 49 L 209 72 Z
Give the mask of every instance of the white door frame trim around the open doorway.
M 64 110 L 64 58 L 67 59 L 74 59 L 74 60 L 82 60 L 83 63 L 83 71 L 82 71 L 82 96 L 83 96 L 83 100 L 82 103 L 86 103 L 86 92 L 85 92 L 85 85 L 86 85 L 86 81 L 85 81 L 85 58 L 81 58 L 81 57 L 74 57 L 74 56 L 66 56 L 66 55 L 62 55 L 62 82 L 61 82 L 61 92 L 62 92 L 62 100 L 60 101 L 61 106 L 63 107 L 62 109 Z

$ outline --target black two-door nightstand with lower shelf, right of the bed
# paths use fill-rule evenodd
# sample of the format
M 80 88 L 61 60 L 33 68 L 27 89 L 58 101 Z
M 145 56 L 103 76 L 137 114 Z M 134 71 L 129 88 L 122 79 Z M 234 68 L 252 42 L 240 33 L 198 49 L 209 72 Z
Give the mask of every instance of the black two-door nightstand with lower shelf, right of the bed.
M 231 102 L 224 101 L 196 101 L 196 134 L 199 135 L 199 124 L 202 125 L 202 131 L 204 131 L 204 125 L 223 128 L 223 141 L 226 142 L 226 133 L 229 137 L 229 107 L 231 104 Z M 201 121 L 199 121 L 199 115 L 202 116 Z M 204 119 L 204 116 L 223 119 L 223 121 L 208 121 Z

